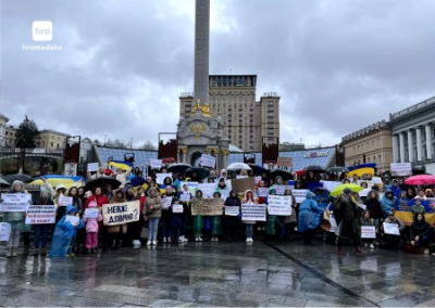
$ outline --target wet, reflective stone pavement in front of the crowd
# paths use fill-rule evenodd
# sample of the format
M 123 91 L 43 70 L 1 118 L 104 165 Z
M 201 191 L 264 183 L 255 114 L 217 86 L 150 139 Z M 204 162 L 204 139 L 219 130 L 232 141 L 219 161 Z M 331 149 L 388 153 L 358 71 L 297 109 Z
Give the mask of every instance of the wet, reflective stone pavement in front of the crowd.
M 0 249 L 0 306 L 431 307 L 435 258 L 299 243 L 188 243 L 75 258 Z

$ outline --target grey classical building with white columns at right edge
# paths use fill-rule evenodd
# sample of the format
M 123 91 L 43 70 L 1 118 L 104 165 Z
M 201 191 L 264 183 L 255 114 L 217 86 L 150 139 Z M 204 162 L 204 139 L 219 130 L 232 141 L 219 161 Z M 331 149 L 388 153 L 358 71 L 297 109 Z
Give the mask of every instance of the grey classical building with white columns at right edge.
M 389 115 L 393 161 L 435 174 L 435 97 Z

